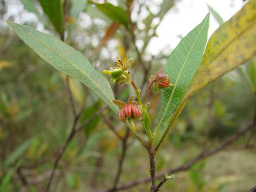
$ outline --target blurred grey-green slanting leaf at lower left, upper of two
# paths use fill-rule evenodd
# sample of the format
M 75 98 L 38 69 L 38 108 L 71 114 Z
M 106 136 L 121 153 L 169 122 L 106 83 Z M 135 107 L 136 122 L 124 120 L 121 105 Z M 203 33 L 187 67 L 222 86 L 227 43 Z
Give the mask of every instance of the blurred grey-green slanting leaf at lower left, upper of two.
M 27 150 L 27 148 L 29 148 L 30 144 L 33 142 L 34 138 L 30 138 L 28 140 L 26 140 L 24 143 L 22 143 L 19 147 L 17 147 L 12 153 L 11 155 L 9 155 L 4 162 L 5 166 L 8 166 L 12 163 L 14 163 L 17 159 L 19 159 Z

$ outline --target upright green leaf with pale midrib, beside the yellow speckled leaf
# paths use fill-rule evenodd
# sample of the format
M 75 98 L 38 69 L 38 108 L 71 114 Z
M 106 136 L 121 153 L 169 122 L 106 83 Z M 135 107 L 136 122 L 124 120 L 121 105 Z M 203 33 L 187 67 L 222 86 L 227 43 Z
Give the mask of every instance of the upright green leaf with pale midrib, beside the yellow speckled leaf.
M 181 39 L 167 60 L 163 72 L 169 75 L 170 83 L 174 86 L 161 90 L 161 113 L 157 129 L 177 108 L 201 63 L 207 42 L 209 17 L 210 14 L 207 14 L 199 25 Z

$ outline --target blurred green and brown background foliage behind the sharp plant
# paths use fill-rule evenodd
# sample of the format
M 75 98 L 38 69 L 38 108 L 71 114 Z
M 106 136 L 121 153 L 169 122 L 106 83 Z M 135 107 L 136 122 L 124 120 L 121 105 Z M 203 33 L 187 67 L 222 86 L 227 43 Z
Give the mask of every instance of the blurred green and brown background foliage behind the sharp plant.
M 127 10 L 132 3 L 117 2 L 119 11 Z M 175 7 L 176 1 L 139 0 L 133 3 L 134 36 L 126 30 L 129 20 L 118 18 L 118 10 L 113 16 L 106 11 L 108 7 L 97 2 L 67 1 L 66 42 L 84 54 L 99 71 L 111 67 L 116 55 L 124 61 L 133 57 L 131 74 L 137 86 L 145 91 L 148 76 L 165 65 L 171 52 L 167 50 L 151 56 L 146 51 L 147 45 L 151 37 L 157 36 L 159 23 Z M 107 6 L 113 8 L 112 4 Z M 13 12 L 15 7 L 22 8 Z M 152 7 L 159 10 L 157 14 L 151 12 Z M 54 27 L 38 1 L 0 1 L 0 192 L 42 191 L 54 159 L 72 128 L 73 114 L 65 85 L 66 76 L 25 45 L 7 26 L 5 19 L 56 37 L 60 35 L 53 32 Z M 189 99 L 156 156 L 157 172 L 188 162 L 202 148 L 218 146 L 252 120 L 255 113 L 255 65 L 254 58 Z M 75 107 L 80 109 L 86 102 L 80 119 L 82 123 L 104 103 L 79 81 L 70 80 Z M 131 86 L 126 85 L 113 86 L 113 90 L 116 98 L 124 101 L 133 94 Z M 159 117 L 159 97 L 151 91 L 149 115 L 152 127 Z M 102 114 L 120 135 L 125 135 L 127 128 L 110 110 L 105 109 Z M 140 123 L 136 124 L 138 131 L 143 133 Z M 162 132 L 166 126 L 167 122 Z M 255 132 L 246 133 L 224 151 L 200 160 L 189 170 L 175 173 L 176 180 L 167 181 L 161 191 L 248 191 L 256 181 L 255 136 Z M 121 141 L 106 121 L 101 115 L 97 116 L 69 143 L 50 191 L 82 192 L 111 188 L 121 146 Z M 131 133 L 120 184 L 150 175 L 147 155 Z M 148 191 L 149 188 L 150 183 L 146 183 L 123 191 Z

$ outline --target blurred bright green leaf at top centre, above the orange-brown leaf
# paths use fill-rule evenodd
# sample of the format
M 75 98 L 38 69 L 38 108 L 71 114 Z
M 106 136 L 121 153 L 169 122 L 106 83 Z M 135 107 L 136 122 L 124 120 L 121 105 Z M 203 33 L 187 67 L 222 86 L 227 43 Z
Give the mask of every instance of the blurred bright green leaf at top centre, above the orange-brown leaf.
M 95 4 L 95 5 L 100 11 L 102 11 L 105 15 L 107 15 L 114 22 L 123 24 L 125 27 L 128 28 L 129 21 L 128 21 L 126 12 L 123 8 L 116 7 L 110 3 Z

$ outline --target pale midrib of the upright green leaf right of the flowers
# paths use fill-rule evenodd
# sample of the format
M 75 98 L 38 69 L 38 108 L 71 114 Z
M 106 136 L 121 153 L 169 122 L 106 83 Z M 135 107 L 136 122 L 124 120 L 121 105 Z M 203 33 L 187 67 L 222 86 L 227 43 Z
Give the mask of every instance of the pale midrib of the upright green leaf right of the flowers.
M 206 20 L 206 21 L 207 21 L 207 20 Z M 176 86 L 177 86 L 178 80 L 179 80 L 179 78 L 180 78 L 181 71 L 182 71 L 183 68 L 184 68 L 184 64 L 187 62 L 188 57 L 190 56 L 190 54 L 191 54 L 191 52 L 192 52 L 192 49 L 194 48 L 194 46 L 195 46 L 195 44 L 196 44 L 196 41 L 197 41 L 198 37 L 199 37 L 200 34 L 202 33 L 202 30 L 203 30 L 203 28 L 204 28 L 204 26 L 205 26 L 205 24 L 206 24 L 206 21 L 204 22 L 204 25 L 202 26 L 202 28 L 201 28 L 199 34 L 197 35 L 196 40 L 195 40 L 195 42 L 193 43 L 193 46 L 192 46 L 192 48 L 190 49 L 188 56 L 186 57 L 186 60 L 185 60 L 185 61 L 183 62 L 183 64 L 182 64 L 180 73 L 178 74 L 178 77 L 177 77 L 177 79 L 176 79 L 176 82 L 174 83 L 174 87 L 173 87 L 173 90 L 172 90 L 172 94 L 171 94 L 170 99 L 169 99 L 169 101 L 167 102 L 167 105 L 166 105 L 166 106 L 168 106 L 168 105 L 170 104 L 170 102 L 172 101 L 172 97 L 173 97 L 173 94 L 174 94 L 174 92 L 175 92 L 175 90 L 176 90 Z M 163 117 L 164 117 L 165 114 L 166 114 L 166 111 L 167 111 L 167 107 L 165 108 L 165 110 L 164 110 L 164 112 L 163 112 L 163 114 L 162 114 L 162 117 L 161 117 L 161 119 L 159 120 L 159 123 L 157 124 L 157 127 L 156 127 L 155 130 L 158 130 L 158 129 L 159 129 L 159 126 L 160 126 L 160 124 L 161 124 L 161 122 L 162 122 L 162 120 L 163 120 Z

